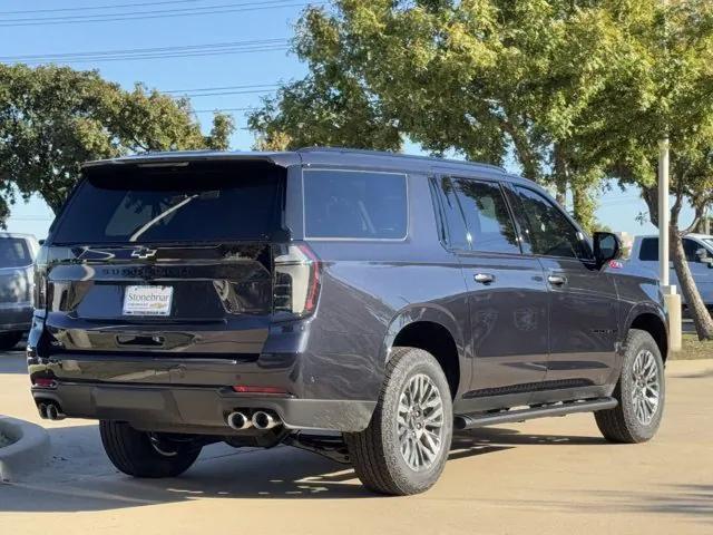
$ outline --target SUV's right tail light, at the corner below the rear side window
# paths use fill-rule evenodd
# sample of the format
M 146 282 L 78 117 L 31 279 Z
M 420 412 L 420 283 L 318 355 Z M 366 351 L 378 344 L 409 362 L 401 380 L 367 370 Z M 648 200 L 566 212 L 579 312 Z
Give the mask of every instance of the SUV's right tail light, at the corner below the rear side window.
M 273 313 L 303 318 L 316 309 L 320 260 L 305 244 L 277 246 L 274 256 Z

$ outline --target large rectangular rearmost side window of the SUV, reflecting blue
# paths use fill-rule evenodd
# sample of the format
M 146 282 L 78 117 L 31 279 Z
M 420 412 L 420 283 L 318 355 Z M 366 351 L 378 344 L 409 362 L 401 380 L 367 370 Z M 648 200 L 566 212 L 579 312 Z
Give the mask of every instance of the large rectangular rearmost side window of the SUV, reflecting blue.
M 406 175 L 323 169 L 304 171 L 303 176 L 306 237 L 406 237 Z

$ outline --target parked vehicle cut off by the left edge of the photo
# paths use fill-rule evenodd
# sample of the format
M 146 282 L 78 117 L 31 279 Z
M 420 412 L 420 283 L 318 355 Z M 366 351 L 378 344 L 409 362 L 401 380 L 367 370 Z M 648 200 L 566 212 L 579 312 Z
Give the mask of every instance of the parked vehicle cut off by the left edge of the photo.
M 32 321 L 32 262 L 39 245 L 30 234 L 0 232 L 0 350 L 12 349 Z

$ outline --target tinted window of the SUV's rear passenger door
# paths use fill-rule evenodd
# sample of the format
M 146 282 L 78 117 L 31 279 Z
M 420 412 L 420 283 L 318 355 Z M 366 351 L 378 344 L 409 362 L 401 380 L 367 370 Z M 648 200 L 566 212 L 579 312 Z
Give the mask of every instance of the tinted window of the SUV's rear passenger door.
M 453 185 L 466 218 L 470 249 L 519 254 L 517 233 L 500 186 L 468 178 L 453 179 Z

